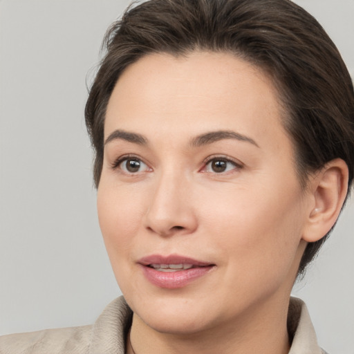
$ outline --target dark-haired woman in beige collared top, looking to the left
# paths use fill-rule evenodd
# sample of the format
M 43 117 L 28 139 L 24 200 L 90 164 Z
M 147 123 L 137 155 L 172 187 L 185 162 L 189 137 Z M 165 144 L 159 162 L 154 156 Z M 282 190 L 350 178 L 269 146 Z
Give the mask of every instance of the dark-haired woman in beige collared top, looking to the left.
M 290 290 L 353 180 L 353 85 L 333 43 L 290 1 L 151 0 L 106 48 L 86 124 L 125 300 L 92 328 L 0 348 L 322 353 Z

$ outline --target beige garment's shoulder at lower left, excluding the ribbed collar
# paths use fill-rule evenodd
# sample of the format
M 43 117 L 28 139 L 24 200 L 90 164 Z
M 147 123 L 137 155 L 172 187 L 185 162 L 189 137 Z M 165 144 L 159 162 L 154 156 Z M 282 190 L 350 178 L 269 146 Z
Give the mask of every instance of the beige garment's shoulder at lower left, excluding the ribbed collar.
M 86 353 L 92 326 L 38 330 L 0 337 L 0 354 Z

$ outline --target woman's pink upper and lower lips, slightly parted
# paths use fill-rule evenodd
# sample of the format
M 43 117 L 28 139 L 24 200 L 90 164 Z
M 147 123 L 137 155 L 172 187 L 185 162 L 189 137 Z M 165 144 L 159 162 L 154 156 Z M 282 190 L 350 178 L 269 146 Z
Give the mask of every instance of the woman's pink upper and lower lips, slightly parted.
M 171 254 L 167 257 L 153 254 L 151 256 L 143 257 L 138 261 L 141 265 L 142 272 L 147 280 L 153 285 L 160 288 L 176 289 L 187 286 L 192 281 L 203 277 L 207 274 L 215 264 L 203 261 L 197 261 L 189 257 L 178 256 Z M 176 272 L 161 272 L 160 270 L 149 267 L 150 264 L 192 264 L 193 268 L 178 270 Z

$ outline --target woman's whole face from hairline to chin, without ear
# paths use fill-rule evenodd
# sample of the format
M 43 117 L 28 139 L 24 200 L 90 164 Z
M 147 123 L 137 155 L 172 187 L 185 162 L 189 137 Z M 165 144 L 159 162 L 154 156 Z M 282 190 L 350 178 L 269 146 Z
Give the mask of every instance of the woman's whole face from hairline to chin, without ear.
M 223 53 L 143 57 L 104 139 L 100 226 L 145 324 L 196 333 L 288 301 L 309 203 L 261 71 Z

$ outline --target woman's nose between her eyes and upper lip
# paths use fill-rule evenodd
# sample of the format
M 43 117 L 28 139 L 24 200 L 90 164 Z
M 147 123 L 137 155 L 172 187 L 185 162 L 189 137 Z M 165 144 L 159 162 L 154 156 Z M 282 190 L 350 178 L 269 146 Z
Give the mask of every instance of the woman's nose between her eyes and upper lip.
M 145 214 L 145 227 L 160 236 L 192 234 L 198 227 L 192 183 L 180 174 L 165 173 L 155 181 Z

